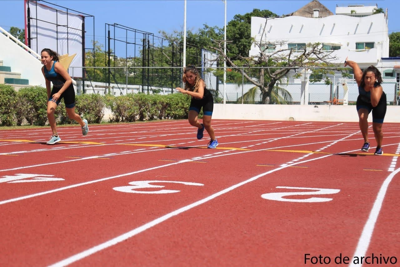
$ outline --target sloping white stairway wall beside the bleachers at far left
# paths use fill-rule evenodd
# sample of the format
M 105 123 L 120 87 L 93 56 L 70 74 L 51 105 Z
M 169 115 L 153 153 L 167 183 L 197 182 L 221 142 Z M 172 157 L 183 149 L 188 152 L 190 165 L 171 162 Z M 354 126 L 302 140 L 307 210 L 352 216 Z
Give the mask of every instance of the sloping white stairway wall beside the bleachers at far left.
M 4 66 L 10 66 L 12 72 L 21 73 L 21 79 L 28 79 L 29 85 L 46 87 L 41 71 L 42 63 L 15 42 L 0 34 L 0 60 Z

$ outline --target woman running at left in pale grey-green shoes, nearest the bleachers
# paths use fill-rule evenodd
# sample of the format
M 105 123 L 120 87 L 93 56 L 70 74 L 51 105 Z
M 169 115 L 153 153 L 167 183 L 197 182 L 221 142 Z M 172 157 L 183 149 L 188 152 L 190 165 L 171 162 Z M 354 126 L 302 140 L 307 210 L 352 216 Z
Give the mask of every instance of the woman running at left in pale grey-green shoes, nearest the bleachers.
M 51 49 L 45 48 L 42 50 L 42 73 L 46 79 L 47 89 L 47 117 L 49 120 L 50 127 L 53 131 L 53 135 L 47 142 L 49 145 L 56 144 L 61 141 L 60 136 L 57 133 L 56 118 L 54 117 L 54 111 L 61 99 L 64 98 L 65 108 L 70 119 L 77 121 L 82 127 L 82 134 L 86 136 L 88 134 L 88 121 L 82 119 L 79 114 L 75 113 L 75 91 L 72 85 L 72 79 L 68 72 L 59 63 L 59 55 Z M 53 89 L 51 89 L 50 82 L 53 83 Z

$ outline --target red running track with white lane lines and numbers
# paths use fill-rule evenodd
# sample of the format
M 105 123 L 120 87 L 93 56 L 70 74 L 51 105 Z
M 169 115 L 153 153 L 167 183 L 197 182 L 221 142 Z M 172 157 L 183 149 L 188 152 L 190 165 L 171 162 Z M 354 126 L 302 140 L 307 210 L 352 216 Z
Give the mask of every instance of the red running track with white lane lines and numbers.
M 399 124 L 213 126 L 0 131 L 0 266 L 400 264 Z

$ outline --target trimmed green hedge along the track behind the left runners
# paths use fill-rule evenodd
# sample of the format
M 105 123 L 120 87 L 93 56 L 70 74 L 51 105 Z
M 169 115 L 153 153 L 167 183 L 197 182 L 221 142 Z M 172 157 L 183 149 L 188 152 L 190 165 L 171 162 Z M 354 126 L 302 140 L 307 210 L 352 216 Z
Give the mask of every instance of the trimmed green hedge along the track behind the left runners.
M 75 112 L 89 123 L 100 123 L 104 109 L 111 110 L 110 122 L 133 122 L 154 119 L 187 119 L 190 97 L 175 93 L 169 95 L 147 95 L 145 93 L 121 96 L 85 94 L 76 95 Z M 46 88 L 24 87 L 15 91 L 10 85 L 0 84 L 0 121 L 3 126 L 46 125 Z M 76 123 L 68 118 L 64 101 L 56 112 L 58 124 Z M 199 117 L 202 117 L 200 113 Z

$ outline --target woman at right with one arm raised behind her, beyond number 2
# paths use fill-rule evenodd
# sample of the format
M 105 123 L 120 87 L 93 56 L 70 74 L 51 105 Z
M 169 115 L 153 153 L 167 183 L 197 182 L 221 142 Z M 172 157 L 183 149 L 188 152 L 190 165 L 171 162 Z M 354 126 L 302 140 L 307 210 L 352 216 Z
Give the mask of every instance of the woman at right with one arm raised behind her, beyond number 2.
M 386 114 L 386 94 L 380 86 L 382 75 L 374 67 L 368 67 L 364 72 L 361 71 L 358 64 L 354 61 L 344 61 L 344 67 L 350 66 L 354 72 L 354 79 L 358 85 L 358 98 L 356 102 L 359 125 L 364 138 L 364 145 L 361 151 L 368 151 L 370 142 L 368 142 L 368 114 L 372 111 L 372 129 L 376 139 L 375 155 L 382 155 L 382 124 Z

